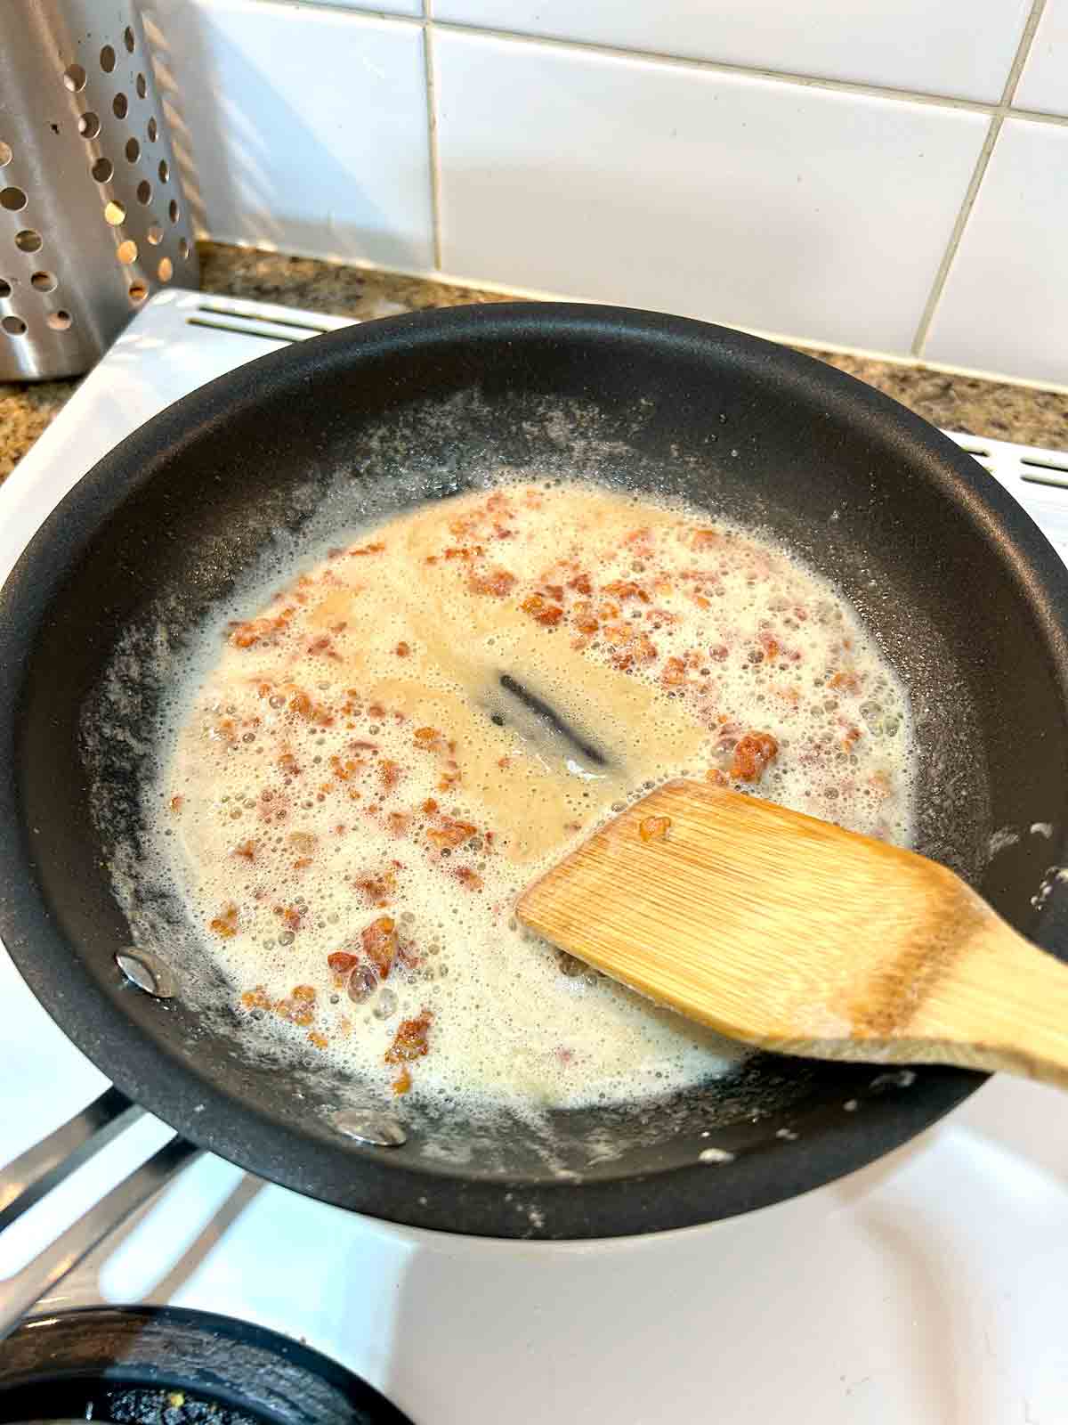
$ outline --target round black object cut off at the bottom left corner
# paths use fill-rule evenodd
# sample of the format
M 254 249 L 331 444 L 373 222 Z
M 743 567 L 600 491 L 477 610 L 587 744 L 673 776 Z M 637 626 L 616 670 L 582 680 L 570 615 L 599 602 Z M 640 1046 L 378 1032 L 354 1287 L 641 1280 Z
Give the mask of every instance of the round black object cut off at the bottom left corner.
M 93 1307 L 0 1347 L 0 1422 L 412 1425 L 319 1351 L 211 1311 Z

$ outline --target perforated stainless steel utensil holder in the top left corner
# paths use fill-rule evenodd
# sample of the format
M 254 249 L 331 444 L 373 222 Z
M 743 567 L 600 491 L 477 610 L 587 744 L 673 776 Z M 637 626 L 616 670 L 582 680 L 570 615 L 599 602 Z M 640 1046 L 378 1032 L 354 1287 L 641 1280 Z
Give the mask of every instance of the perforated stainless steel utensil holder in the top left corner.
M 167 282 L 189 212 L 131 0 L 0 0 L 0 380 L 87 370 Z

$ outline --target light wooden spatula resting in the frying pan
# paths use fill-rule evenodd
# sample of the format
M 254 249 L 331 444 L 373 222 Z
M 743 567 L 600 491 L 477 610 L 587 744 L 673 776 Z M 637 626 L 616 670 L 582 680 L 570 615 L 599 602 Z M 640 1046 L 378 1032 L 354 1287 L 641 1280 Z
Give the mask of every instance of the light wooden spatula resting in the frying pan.
M 756 797 L 661 787 L 530 886 L 518 915 L 763 1049 L 1068 1087 L 1068 966 L 944 866 Z

